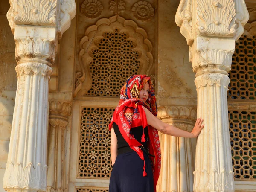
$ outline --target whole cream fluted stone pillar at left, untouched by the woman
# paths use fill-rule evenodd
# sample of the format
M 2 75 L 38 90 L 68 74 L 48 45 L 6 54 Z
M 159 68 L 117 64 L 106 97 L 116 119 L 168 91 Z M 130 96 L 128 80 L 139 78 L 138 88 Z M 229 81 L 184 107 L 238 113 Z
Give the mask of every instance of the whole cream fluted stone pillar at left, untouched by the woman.
M 58 38 L 75 16 L 74 0 L 10 0 L 17 92 L 3 187 L 45 191 L 48 81 Z

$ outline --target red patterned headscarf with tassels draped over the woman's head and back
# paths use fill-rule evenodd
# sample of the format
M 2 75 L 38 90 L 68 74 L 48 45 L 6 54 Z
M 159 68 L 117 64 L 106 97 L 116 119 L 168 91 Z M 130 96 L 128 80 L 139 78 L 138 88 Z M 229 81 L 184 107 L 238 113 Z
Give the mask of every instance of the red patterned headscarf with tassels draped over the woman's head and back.
M 139 99 L 139 92 L 145 86 L 149 84 L 148 99 L 146 102 L 142 102 Z M 154 93 L 154 87 L 151 83 L 150 77 L 146 75 L 135 75 L 128 78 L 126 83 L 120 92 L 120 101 L 116 107 L 109 129 L 111 129 L 113 122 L 115 122 L 119 130 L 124 137 L 125 141 L 129 144 L 131 149 L 137 152 L 140 158 L 144 161 L 143 176 L 146 176 L 145 172 L 145 160 L 143 151 L 139 148 L 141 143 L 138 142 L 133 135 L 130 134 L 130 130 L 133 127 L 143 126 L 142 142 L 145 142 L 144 128 L 148 126 L 148 148 L 149 153 L 154 154 L 151 158 L 153 165 L 153 177 L 154 177 L 154 190 L 156 191 L 157 180 L 160 175 L 161 168 L 161 152 L 160 142 L 158 137 L 158 131 L 148 125 L 147 118 L 143 106 L 146 107 L 154 116 L 157 116 L 157 103 Z

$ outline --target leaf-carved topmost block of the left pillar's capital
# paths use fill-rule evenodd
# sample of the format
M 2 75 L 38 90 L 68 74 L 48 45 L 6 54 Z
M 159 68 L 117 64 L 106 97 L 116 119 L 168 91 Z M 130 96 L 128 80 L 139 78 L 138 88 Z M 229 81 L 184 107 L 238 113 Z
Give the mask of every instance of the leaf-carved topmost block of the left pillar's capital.
M 7 19 L 13 33 L 15 24 L 56 26 L 58 23 L 58 38 L 61 38 L 76 15 L 75 0 L 9 0 L 9 3 Z

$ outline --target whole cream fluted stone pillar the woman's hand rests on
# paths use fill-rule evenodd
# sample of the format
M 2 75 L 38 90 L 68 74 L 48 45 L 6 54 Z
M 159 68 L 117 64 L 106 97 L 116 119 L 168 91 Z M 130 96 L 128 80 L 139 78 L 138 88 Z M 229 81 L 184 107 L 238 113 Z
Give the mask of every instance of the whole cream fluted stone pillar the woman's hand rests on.
M 198 117 L 204 130 L 198 137 L 194 192 L 234 192 L 227 87 L 235 41 L 249 15 L 244 0 L 181 0 L 176 23 L 189 45 L 196 73 Z

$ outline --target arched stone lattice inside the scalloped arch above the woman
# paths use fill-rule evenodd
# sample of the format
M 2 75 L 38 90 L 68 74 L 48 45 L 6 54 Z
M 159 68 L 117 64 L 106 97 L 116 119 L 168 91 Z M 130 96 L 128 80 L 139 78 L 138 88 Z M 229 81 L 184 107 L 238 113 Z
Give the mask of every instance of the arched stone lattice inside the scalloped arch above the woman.
M 97 49 L 90 52 L 92 87 L 86 95 L 119 97 L 120 89 L 126 79 L 136 75 L 140 68 L 140 54 L 133 51 L 135 44 L 127 40 L 128 35 L 117 29 L 105 32 Z

